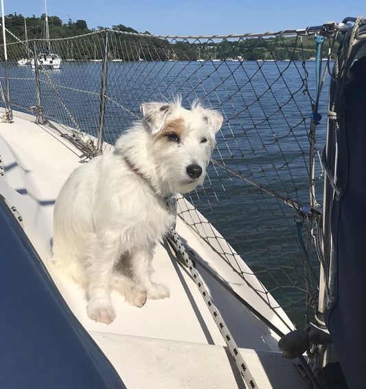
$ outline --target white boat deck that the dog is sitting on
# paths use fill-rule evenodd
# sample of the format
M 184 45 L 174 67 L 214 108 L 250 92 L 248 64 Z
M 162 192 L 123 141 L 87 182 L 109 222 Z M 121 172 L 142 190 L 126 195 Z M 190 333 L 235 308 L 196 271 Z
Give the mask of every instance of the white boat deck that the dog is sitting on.
M 110 325 L 87 317 L 84 293 L 59 274 L 49 262 L 54 201 L 71 171 L 80 164 L 78 149 L 60 133 L 34 123 L 34 116 L 14 112 L 14 122 L 0 123 L 0 155 L 4 175 L 0 194 L 15 206 L 25 232 L 43 259 L 62 296 L 76 318 L 111 360 L 128 388 L 236 388 L 243 387 L 240 373 L 228 357 L 225 341 L 211 318 L 189 271 L 168 247 L 158 245 L 154 278 L 170 289 L 170 298 L 148 300 L 142 308 L 112 300 L 117 318 Z M 180 206 L 190 208 L 183 199 Z M 196 217 L 196 216 L 192 216 Z M 255 306 L 283 332 L 292 324 L 283 313 L 279 319 L 263 300 L 220 259 L 182 219 L 177 232 L 211 271 Z M 226 243 L 225 243 L 226 244 Z M 268 329 L 197 266 L 209 293 L 241 349 L 259 388 L 306 388 L 293 362 L 282 358 L 278 336 Z M 253 282 L 258 282 L 254 276 Z M 259 284 L 258 284 L 259 285 Z M 280 311 L 281 313 L 281 311 Z

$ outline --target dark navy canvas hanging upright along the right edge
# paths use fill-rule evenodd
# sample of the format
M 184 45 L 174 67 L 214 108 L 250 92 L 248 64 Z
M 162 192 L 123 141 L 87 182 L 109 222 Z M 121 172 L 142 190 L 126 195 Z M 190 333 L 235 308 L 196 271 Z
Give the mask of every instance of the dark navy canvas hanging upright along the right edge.
M 341 90 L 339 148 L 331 212 L 336 276 L 325 321 L 350 389 L 366 388 L 366 58 L 352 65 Z M 342 120 L 343 119 L 343 120 Z M 325 228 L 327 226 L 325 225 Z

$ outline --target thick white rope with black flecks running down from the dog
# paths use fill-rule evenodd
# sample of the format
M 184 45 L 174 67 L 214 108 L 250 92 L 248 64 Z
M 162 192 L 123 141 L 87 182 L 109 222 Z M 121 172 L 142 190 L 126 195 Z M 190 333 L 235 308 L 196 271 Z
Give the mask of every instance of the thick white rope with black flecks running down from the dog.
M 181 238 L 179 238 L 178 233 L 176 230 L 174 230 L 173 227 L 170 228 L 170 236 L 173 239 L 174 243 L 176 244 L 176 248 L 179 249 L 179 253 L 182 255 L 183 260 L 185 261 L 185 264 L 187 265 L 188 269 L 190 269 L 190 273 L 194 279 L 194 282 L 196 282 L 196 285 L 198 286 L 199 291 L 201 292 L 201 295 L 203 296 L 203 300 L 205 300 L 205 303 L 207 305 L 207 308 L 209 309 L 209 312 L 212 315 L 212 318 L 214 318 L 214 321 L 216 325 L 218 326 L 218 330 L 220 331 L 222 337 L 224 338 L 227 347 L 229 348 L 229 351 L 231 355 L 233 356 L 233 359 L 236 362 L 236 366 L 238 366 L 238 369 L 240 371 L 240 374 L 242 375 L 245 384 L 248 388 L 258 389 L 258 385 L 255 383 L 255 380 L 251 373 L 249 372 L 247 364 L 244 362 L 244 359 L 239 351 L 238 345 L 236 344 L 235 340 L 233 339 L 233 336 L 231 335 L 229 329 L 227 328 L 224 320 L 222 319 L 222 316 L 220 314 L 220 311 L 218 311 L 217 307 L 215 306 L 214 302 L 211 300 L 211 296 L 209 296 L 209 293 L 203 284 L 200 275 L 198 274 L 198 271 L 194 267 L 194 263 L 190 259 L 190 256 L 188 255 Z

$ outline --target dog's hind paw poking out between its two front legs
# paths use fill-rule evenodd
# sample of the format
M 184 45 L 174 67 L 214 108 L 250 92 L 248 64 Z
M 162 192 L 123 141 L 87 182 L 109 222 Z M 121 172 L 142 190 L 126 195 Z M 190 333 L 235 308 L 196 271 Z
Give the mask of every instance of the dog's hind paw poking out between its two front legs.
M 146 302 L 146 289 L 117 271 L 113 271 L 111 287 L 122 293 L 125 300 L 135 307 L 142 307 Z

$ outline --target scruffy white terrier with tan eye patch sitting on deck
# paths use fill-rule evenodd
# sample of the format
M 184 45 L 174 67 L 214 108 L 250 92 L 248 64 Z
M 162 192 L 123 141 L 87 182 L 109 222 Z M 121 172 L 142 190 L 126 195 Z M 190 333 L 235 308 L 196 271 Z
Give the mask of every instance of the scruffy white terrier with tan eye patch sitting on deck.
M 54 208 L 54 263 L 87 291 L 89 318 L 106 324 L 111 289 L 137 307 L 169 296 L 150 278 L 155 244 L 174 222 L 166 199 L 203 184 L 222 124 L 198 103 L 145 103 L 141 113 L 113 151 L 71 173 Z

